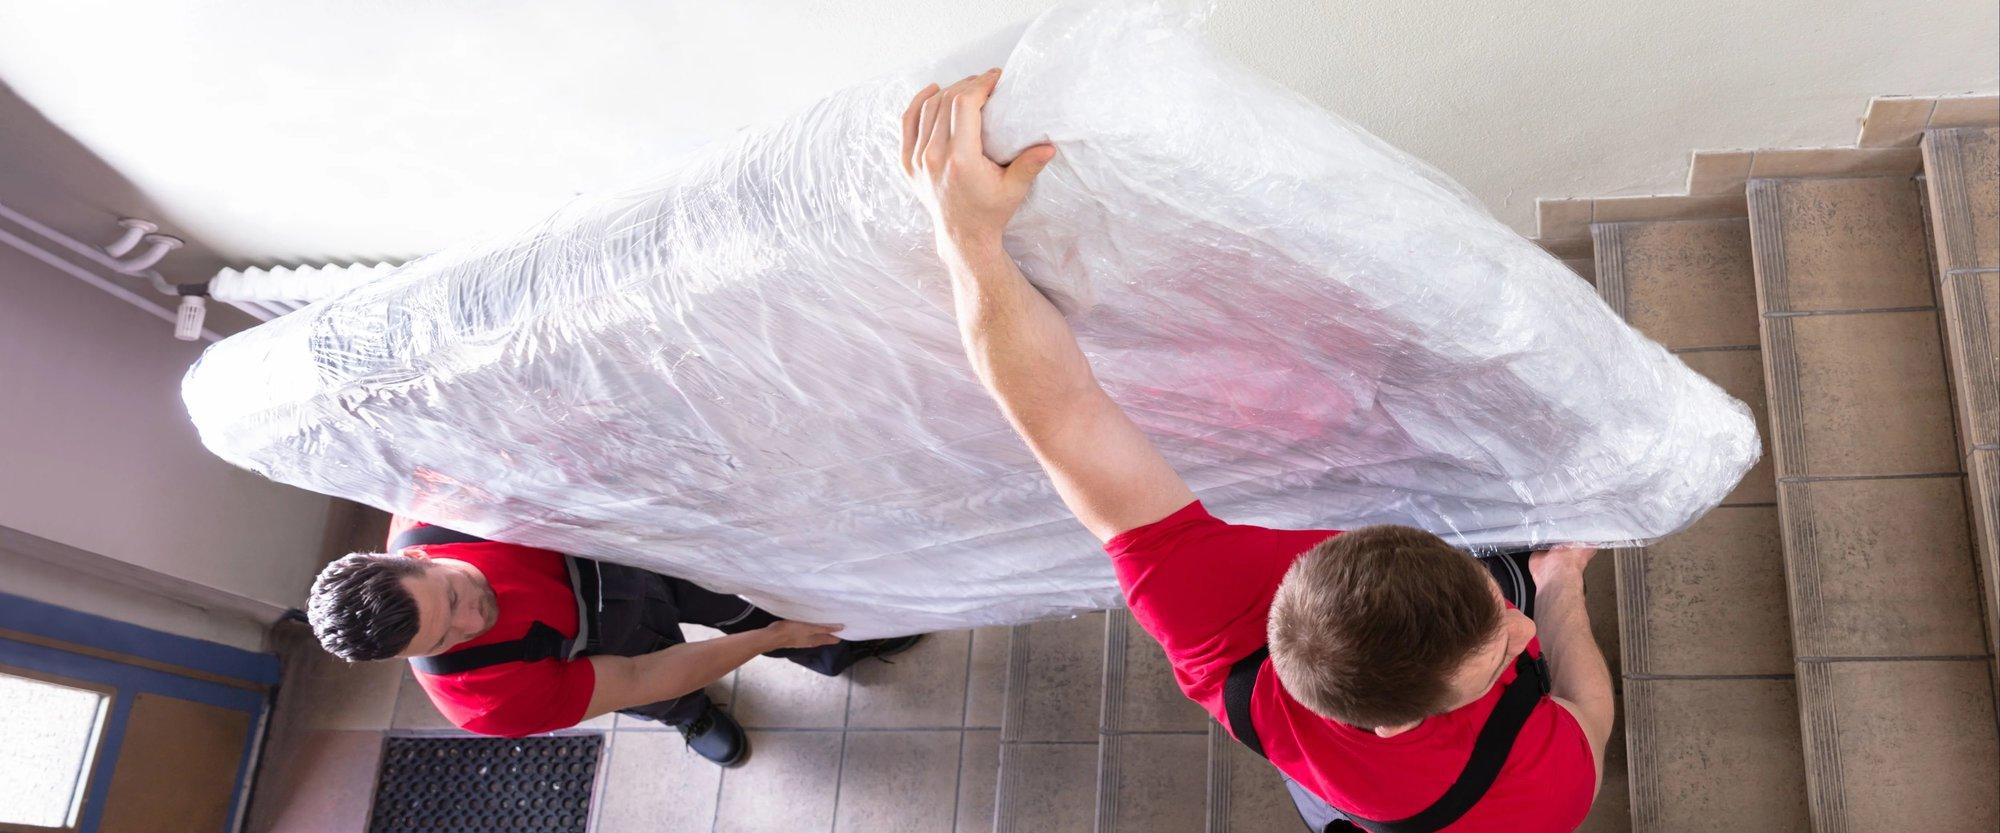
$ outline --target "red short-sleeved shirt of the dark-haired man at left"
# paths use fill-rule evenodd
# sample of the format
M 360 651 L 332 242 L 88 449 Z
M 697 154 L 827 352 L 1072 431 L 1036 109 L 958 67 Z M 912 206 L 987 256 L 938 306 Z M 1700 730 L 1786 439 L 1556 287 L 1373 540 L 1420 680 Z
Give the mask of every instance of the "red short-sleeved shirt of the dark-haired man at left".
M 452 651 L 506 643 L 528 635 L 534 623 L 576 635 L 576 597 L 560 553 L 502 543 L 410 547 L 432 559 L 478 567 L 494 591 L 498 617 L 486 633 Z M 582 723 L 596 691 L 588 659 L 500 663 L 456 675 L 416 673 L 438 713 L 464 731 L 522 737 Z

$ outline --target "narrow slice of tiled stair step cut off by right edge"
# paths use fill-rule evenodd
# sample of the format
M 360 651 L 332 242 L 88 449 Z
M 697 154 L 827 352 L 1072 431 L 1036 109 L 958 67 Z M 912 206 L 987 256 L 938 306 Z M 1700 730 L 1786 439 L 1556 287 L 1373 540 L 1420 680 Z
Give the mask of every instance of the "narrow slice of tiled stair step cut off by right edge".
M 1986 635 L 2000 653 L 2000 128 L 1930 130 L 1924 172 Z

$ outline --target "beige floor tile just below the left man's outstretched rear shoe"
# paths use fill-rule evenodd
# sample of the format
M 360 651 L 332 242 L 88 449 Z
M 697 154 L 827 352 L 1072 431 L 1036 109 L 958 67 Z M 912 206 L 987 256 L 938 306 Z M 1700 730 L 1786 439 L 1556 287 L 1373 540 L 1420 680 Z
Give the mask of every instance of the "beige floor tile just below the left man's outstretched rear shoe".
M 848 727 L 956 729 L 966 721 L 966 667 L 972 631 L 932 633 L 890 661 L 852 671 Z

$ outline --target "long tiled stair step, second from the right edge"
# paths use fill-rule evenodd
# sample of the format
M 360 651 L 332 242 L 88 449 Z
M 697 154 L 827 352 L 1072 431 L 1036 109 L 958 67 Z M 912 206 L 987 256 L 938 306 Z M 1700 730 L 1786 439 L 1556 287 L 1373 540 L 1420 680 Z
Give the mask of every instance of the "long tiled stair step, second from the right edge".
M 1754 178 L 1748 196 L 1814 829 L 1992 829 L 1992 657 L 1918 186 Z M 1952 695 L 1968 675 L 1980 695 Z M 1910 817 L 1930 807 L 1956 815 Z

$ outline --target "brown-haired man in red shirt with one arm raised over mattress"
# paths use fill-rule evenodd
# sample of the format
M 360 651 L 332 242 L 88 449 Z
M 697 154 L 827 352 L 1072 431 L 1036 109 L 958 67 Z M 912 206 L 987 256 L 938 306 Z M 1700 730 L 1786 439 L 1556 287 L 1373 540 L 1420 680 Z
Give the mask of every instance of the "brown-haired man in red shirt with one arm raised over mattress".
M 1528 619 L 1488 569 L 1424 531 L 1208 515 L 1000 244 L 1056 148 L 986 158 L 980 110 L 998 80 L 920 90 L 902 166 L 932 214 L 972 368 L 1106 543 L 1182 691 L 1294 783 L 1316 829 L 1576 829 L 1612 729 L 1610 673 L 1584 615 L 1594 551 L 1534 553 L 1532 593 L 1520 561 L 1490 563 L 1534 597 Z

